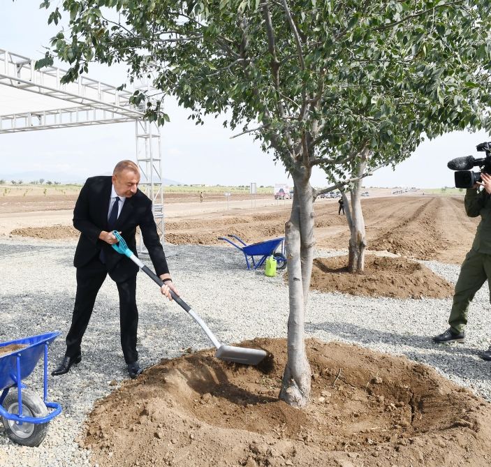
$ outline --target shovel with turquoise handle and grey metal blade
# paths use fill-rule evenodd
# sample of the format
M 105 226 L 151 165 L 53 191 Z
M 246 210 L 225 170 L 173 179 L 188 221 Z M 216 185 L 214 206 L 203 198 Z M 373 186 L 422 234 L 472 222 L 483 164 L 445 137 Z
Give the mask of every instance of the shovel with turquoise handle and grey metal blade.
M 140 261 L 140 259 L 138 259 L 137 256 L 133 254 L 133 251 L 128 248 L 123 237 L 119 235 L 119 232 L 117 232 L 117 230 L 113 230 L 112 234 L 117 238 L 119 242 L 118 244 L 112 245 L 112 248 L 115 249 L 118 253 L 126 255 L 131 261 L 135 263 L 135 265 L 137 265 L 143 272 L 145 272 L 145 274 L 147 274 L 150 279 L 153 279 L 153 281 L 156 282 L 159 287 L 162 287 L 163 281 L 160 279 L 160 277 L 152 272 L 149 267 L 145 266 Z M 176 295 L 173 290 L 170 290 L 170 295 L 172 295 L 175 302 L 177 302 L 177 304 L 179 304 L 182 309 L 184 309 L 184 311 L 187 311 L 191 318 L 193 318 L 193 320 L 195 320 L 196 323 L 200 325 L 203 331 L 205 331 L 210 341 L 212 341 L 213 345 L 217 348 L 217 352 L 215 352 L 215 357 L 226 360 L 227 362 L 242 363 L 245 365 L 257 365 L 259 362 L 261 362 L 261 360 L 263 360 L 264 357 L 268 355 L 265 350 L 260 350 L 256 348 L 223 346 L 210 331 L 210 328 L 207 327 L 206 323 L 198 316 L 197 313 L 191 310 L 191 306 L 186 304 L 186 302 L 184 302 L 181 297 Z

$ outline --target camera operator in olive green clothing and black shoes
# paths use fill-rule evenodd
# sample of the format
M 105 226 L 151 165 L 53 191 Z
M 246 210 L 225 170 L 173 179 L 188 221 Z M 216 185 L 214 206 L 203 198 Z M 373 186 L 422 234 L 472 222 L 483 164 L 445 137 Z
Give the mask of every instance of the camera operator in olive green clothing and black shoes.
M 433 341 L 437 343 L 464 342 L 469 304 L 486 279 L 491 288 L 491 175 L 482 173 L 481 180 L 465 193 L 464 207 L 467 216 L 481 216 L 481 222 L 455 284 L 453 306 L 448 318 L 450 327 L 433 337 Z M 481 354 L 481 358 L 491 360 L 491 346 Z

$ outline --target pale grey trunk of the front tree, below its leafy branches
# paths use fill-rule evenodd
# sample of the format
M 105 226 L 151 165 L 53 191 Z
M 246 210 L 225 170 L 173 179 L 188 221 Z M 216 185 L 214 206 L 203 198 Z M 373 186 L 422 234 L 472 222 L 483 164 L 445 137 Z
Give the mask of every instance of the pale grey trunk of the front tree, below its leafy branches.
M 293 179 L 295 193 L 290 220 L 285 224 L 286 258 L 288 259 L 288 343 L 279 398 L 302 408 L 310 399 L 312 372 L 305 353 L 304 329 L 307 295 L 314 259 L 314 205 L 312 186 L 305 178 Z

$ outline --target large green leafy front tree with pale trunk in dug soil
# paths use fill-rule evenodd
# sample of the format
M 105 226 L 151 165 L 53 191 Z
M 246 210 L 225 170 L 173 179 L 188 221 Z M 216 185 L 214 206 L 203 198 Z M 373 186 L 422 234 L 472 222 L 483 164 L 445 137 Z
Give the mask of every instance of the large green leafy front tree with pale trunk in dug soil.
M 50 8 L 50 0 L 42 6 Z M 488 2 L 64 0 L 63 8 L 68 34 L 52 40 L 71 64 L 63 82 L 87 73 L 91 61 L 124 61 L 131 80 L 154 77 L 161 92 L 132 98 L 150 120 L 169 120 L 168 95 L 197 124 L 205 114 L 228 111 L 225 126 L 252 133 L 288 170 L 290 316 L 280 397 L 305 406 L 311 372 L 303 334 L 320 193 L 310 185 L 312 168 L 339 177 L 340 188 L 356 181 L 349 174 L 365 151 L 370 169 L 410 154 L 428 128 L 436 135 L 448 124 L 483 126 L 490 103 Z M 54 8 L 49 21 L 60 17 Z M 47 52 L 36 66 L 49 64 Z M 388 89 L 394 92 L 386 96 Z M 411 121 L 410 106 L 420 119 Z M 401 140 L 395 128 L 408 122 L 411 138 Z

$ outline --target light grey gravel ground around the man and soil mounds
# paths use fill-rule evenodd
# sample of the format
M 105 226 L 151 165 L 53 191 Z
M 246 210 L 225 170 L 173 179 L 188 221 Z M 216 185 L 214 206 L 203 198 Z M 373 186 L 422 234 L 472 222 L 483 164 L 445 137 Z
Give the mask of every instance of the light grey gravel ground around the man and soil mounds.
M 75 296 L 75 243 L 0 239 L 0 342 L 61 331 L 50 347 L 49 370 L 64 354 Z M 193 306 L 224 343 L 255 336 L 285 337 L 288 289 L 282 276 L 247 271 L 244 257 L 227 246 L 166 246 L 170 271 L 182 298 Z M 339 252 L 319 251 L 319 256 Z M 147 264 L 149 260 L 146 260 Z M 455 283 L 459 267 L 425 262 Z M 140 311 L 138 349 L 146 367 L 186 348 L 209 348 L 196 323 L 164 301 L 145 274 L 138 275 Z M 491 335 L 489 290 L 484 286 L 471 308 L 467 342 L 435 346 L 430 336 L 446 329 L 451 299 L 389 299 L 311 292 L 306 334 L 318 339 L 358 343 L 406 355 L 434 366 L 441 374 L 491 401 L 491 364 L 478 358 Z M 42 364 L 24 383 L 42 395 Z M 89 452 L 78 446 L 82 422 L 96 399 L 126 378 L 119 346 L 117 288 L 106 280 L 82 343 L 82 362 L 66 376 L 49 378 L 49 399 L 63 406 L 40 447 L 12 443 L 0 424 L 0 466 L 82 466 Z

